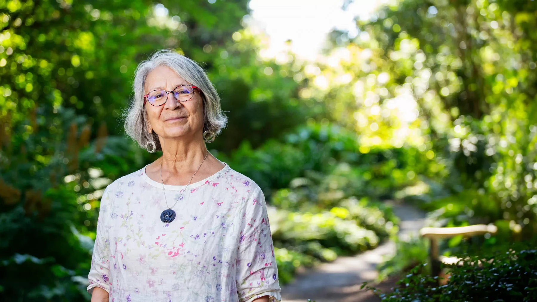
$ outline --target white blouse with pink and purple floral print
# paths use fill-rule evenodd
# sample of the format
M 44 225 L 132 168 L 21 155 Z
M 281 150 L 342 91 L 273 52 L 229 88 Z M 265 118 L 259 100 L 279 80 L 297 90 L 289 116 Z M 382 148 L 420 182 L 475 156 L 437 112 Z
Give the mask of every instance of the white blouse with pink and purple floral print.
M 147 166 L 146 166 L 147 167 Z M 88 292 L 109 301 L 281 301 L 265 197 L 227 164 L 190 184 L 164 185 L 146 167 L 108 185 L 101 199 Z

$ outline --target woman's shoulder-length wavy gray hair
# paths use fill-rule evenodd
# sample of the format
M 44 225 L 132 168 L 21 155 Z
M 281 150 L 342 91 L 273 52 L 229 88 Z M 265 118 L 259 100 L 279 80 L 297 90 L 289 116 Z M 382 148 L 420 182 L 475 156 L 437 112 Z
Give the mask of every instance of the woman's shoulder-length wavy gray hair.
M 203 131 L 208 131 L 208 136 L 220 134 L 222 128 L 226 126 L 227 118 L 222 114 L 220 97 L 207 74 L 193 60 L 168 49 L 157 51 L 148 60 L 142 61 L 136 67 L 133 85 L 134 99 L 124 113 L 125 132 L 142 148 L 145 148 L 149 141 L 154 141 L 156 150 L 162 149 L 155 131 L 148 132 L 149 123 L 146 111 L 143 109 L 143 92 L 146 77 L 153 69 L 159 66 L 169 67 L 185 81 L 202 91 L 200 95 L 203 100 L 205 115 Z

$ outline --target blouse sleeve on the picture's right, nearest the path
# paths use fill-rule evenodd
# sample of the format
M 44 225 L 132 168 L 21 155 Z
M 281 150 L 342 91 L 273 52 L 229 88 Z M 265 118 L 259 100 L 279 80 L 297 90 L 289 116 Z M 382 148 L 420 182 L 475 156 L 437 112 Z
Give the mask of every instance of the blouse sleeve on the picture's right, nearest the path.
M 269 296 L 270 302 L 281 301 L 265 196 L 259 187 L 245 205 L 236 268 L 241 302 L 251 302 L 263 296 Z

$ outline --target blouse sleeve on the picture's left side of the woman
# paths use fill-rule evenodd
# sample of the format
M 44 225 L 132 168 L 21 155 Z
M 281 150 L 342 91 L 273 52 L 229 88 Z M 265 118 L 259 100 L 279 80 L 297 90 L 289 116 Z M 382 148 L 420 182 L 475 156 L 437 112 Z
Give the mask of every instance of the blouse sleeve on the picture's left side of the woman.
M 110 293 L 110 240 L 108 239 L 108 226 L 106 216 L 110 215 L 110 192 L 112 185 L 108 185 L 101 197 L 99 217 L 97 218 L 97 235 L 91 256 L 91 268 L 88 276 L 90 285 L 87 291 L 91 294 L 93 287 L 100 287 Z

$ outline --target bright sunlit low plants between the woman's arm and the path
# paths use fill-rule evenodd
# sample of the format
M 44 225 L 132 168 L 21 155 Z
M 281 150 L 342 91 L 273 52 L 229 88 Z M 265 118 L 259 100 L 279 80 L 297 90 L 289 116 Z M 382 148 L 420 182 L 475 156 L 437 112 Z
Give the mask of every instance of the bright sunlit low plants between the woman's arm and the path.
M 274 246 L 279 247 L 276 256 L 280 278 L 284 276 L 282 283 L 292 281 L 293 272 L 299 267 L 374 248 L 398 229 L 394 226 L 396 218 L 388 220 L 389 216 L 374 204 L 355 198 L 317 213 L 270 207 L 269 216 Z

